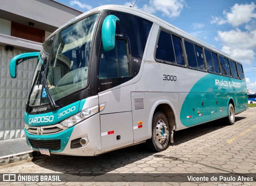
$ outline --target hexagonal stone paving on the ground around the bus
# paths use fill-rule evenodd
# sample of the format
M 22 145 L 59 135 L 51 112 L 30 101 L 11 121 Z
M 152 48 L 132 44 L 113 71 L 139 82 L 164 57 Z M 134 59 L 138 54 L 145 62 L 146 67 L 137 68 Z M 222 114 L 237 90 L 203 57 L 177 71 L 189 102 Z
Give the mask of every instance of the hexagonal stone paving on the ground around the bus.
M 174 133 L 174 144 L 168 146 L 163 152 L 150 152 L 144 148 L 144 144 L 141 144 L 96 157 L 51 154 L 50 157 L 40 156 L 33 161 L 25 160 L 4 165 L 0 173 L 69 173 L 62 174 L 62 182 L 45 183 L 52 186 L 209 186 L 213 184 L 200 182 L 179 184 L 170 182 L 170 178 L 178 181 L 180 176 L 177 173 L 190 175 L 203 172 L 255 174 L 256 128 L 252 127 L 256 125 L 254 122 L 256 121 L 256 109 L 247 110 L 236 116 L 240 118 L 232 126 L 210 122 L 177 131 Z M 252 130 L 232 143 L 226 143 L 248 129 Z M 80 176 L 78 173 L 92 175 Z M 95 173 L 100 175 L 93 175 Z M 170 177 L 164 175 L 165 173 L 175 173 L 175 175 Z M 74 180 L 78 182 L 72 182 Z M 118 182 L 120 180 L 122 182 Z M 17 182 L 15 183 L 18 185 Z M 14 183 L 5 184 L 15 185 Z M 44 185 L 41 182 L 22 184 Z

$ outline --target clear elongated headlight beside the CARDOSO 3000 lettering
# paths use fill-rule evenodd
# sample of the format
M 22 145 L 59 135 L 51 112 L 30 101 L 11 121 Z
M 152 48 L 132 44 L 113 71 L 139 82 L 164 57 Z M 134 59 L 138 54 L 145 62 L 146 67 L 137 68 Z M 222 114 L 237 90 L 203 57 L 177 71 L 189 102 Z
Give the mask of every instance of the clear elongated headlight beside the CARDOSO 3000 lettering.
M 98 112 L 99 112 L 99 106 L 97 105 L 97 106 L 88 108 L 82 112 L 79 112 L 78 114 L 71 116 L 70 118 L 67 118 L 66 120 L 63 120 L 62 122 L 60 122 L 60 124 L 65 127 L 72 127 L 73 125 L 93 116 L 94 114 L 96 114 Z

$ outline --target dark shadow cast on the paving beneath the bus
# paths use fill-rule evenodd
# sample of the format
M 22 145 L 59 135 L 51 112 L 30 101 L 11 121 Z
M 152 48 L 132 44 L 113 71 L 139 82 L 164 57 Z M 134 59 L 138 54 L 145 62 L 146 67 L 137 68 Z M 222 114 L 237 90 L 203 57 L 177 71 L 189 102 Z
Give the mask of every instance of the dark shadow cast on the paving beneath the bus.
M 236 117 L 236 121 L 243 120 L 244 117 Z M 174 143 L 169 146 L 178 146 L 205 134 L 226 127 L 220 121 L 212 121 L 199 126 L 190 127 L 184 130 L 174 132 Z M 171 151 L 170 151 L 171 152 Z M 111 171 L 128 171 L 129 168 L 135 168 L 134 164 L 139 164 L 144 158 L 161 158 L 164 155 L 150 151 L 145 143 L 114 150 L 99 156 L 66 156 L 51 154 L 51 156 L 39 156 L 33 158 L 32 162 L 41 168 L 51 170 L 56 173 L 66 173 L 72 175 L 93 175 L 106 174 Z M 168 155 L 168 158 L 178 160 L 177 157 Z M 145 161 L 142 160 L 142 161 Z M 140 162 L 141 163 L 141 162 Z M 143 162 L 142 162 L 143 163 Z M 131 165 L 133 164 L 133 165 Z M 127 166 L 128 165 L 128 166 Z M 46 171 L 47 172 L 47 171 Z M 36 170 L 35 170 L 36 173 Z

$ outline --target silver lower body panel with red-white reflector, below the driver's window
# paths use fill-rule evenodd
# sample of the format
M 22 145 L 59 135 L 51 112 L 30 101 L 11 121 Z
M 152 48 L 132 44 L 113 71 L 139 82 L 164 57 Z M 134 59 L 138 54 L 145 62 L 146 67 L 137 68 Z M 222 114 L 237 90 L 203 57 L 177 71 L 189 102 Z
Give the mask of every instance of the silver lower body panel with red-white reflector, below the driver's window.
M 131 92 L 133 85 L 117 88 L 99 96 L 102 152 L 133 143 Z

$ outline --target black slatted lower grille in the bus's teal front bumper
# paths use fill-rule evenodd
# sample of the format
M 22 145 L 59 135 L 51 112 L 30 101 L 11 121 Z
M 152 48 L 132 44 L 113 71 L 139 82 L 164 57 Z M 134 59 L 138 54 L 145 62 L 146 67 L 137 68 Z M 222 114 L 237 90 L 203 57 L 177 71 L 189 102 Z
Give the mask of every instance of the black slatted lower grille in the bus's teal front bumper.
M 60 140 L 32 140 L 28 139 L 34 148 L 47 148 L 50 150 L 60 150 Z

